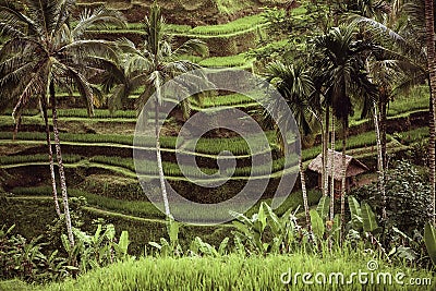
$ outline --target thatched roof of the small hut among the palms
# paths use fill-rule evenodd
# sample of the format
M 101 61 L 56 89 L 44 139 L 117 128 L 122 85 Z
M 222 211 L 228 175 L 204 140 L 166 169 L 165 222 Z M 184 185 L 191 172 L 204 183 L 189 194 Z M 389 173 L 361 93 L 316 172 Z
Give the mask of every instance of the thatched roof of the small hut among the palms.
M 328 167 L 328 175 L 330 174 L 330 167 L 331 167 L 331 149 L 328 150 L 327 155 L 327 167 Z M 335 151 L 334 155 L 334 179 L 340 180 L 342 178 L 342 153 Z M 346 155 L 346 167 L 347 167 L 347 178 L 354 177 L 360 173 L 366 172 L 370 169 L 362 163 L 361 161 L 356 160 L 352 156 Z M 315 171 L 317 173 L 323 172 L 323 154 L 319 154 L 316 158 L 314 158 L 311 163 L 308 165 L 308 169 Z

